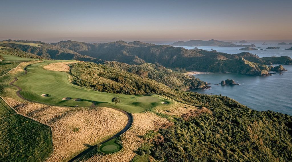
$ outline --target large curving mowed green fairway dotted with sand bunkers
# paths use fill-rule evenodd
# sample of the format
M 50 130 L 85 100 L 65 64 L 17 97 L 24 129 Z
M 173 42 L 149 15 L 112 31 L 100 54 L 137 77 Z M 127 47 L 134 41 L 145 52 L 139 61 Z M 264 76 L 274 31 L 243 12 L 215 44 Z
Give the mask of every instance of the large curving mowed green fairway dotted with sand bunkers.
M 14 84 L 22 88 L 20 94 L 29 100 L 59 106 L 75 106 L 78 104 L 79 107 L 88 107 L 95 102 L 95 105 L 100 107 L 114 107 L 127 112 L 142 112 L 155 106 L 163 106 L 164 104 L 161 104 L 161 102 L 173 102 L 159 95 L 123 95 L 82 88 L 69 81 L 72 76 L 68 73 L 42 68 L 49 63 L 65 61 L 72 62 L 72 60 L 46 60 L 29 65 L 27 67 L 28 73 L 18 77 Z M 42 94 L 47 94 L 48 97 L 42 97 Z M 71 99 L 62 100 L 64 97 Z M 111 99 L 113 97 L 119 97 L 121 103 L 117 105 L 112 103 Z M 80 101 L 73 100 L 79 98 Z

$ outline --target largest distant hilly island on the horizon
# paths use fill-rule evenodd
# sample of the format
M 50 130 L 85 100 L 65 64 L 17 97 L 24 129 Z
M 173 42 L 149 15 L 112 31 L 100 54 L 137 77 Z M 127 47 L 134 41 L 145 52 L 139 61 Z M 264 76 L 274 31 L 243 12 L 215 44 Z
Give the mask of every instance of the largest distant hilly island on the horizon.
M 178 41 L 175 43 L 172 43 L 171 46 L 227 46 L 233 44 L 232 42 L 224 42 L 224 41 L 217 41 L 215 39 L 211 39 L 208 41 L 202 41 L 202 40 L 190 40 L 190 41 Z

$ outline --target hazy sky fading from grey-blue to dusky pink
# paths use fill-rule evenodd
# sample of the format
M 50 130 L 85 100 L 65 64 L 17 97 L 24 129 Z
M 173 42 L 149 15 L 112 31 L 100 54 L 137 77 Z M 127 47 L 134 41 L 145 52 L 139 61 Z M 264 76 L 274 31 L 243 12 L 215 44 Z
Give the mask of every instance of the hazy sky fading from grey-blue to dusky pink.
M 292 39 L 292 0 L 3 0 L 0 15 L 0 40 Z

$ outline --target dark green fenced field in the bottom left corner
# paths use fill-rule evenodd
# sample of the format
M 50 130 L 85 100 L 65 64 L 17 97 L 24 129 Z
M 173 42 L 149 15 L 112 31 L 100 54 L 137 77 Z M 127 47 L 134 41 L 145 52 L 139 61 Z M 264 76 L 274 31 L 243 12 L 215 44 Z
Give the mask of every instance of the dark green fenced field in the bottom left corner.
M 0 161 L 43 161 L 53 153 L 51 128 L 13 115 L 0 119 Z

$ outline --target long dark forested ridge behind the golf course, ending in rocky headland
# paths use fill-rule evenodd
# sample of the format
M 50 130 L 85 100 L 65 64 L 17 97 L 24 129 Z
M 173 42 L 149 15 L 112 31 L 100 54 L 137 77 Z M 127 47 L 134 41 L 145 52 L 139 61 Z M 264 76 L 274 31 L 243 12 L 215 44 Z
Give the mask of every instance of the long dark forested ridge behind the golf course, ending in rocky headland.
M 268 57 L 242 52 L 238 54 L 220 53 L 216 50 L 187 50 L 182 47 L 154 45 L 139 41 L 115 41 L 109 43 L 84 43 L 78 41 L 60 41 L 42 44 L 40 47 L 4 43 L 1 46 L 17 48 L 52 59 L 76 59 L 100 63 L 102 60 L 118 61 L 140 65 L 152 63 L 170 68 L 185 68 L 203 72 L 232 72 L 238 74 L 267 76 L 266 64 L 292 64 L 291 58 Z

